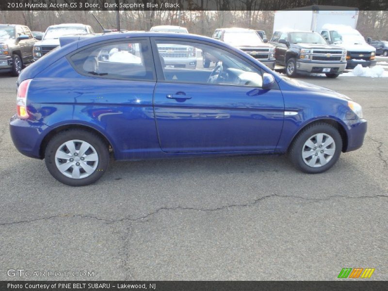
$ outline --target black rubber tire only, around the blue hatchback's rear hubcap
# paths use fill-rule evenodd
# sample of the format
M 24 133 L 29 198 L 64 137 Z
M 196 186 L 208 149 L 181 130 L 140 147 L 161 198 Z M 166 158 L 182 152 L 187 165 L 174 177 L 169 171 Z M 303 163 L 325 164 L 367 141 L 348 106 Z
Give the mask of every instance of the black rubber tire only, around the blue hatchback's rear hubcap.
M 95 171 L 85 178 L 65 176 L 56 165 L 55 154 L 67 141 L 81 140 L 89 143 L 97 152 L 98 162 Z M 54 135 L 45 150 L 45 162 L 50 174 L 58 181 L 69 186 L 85 186 L 96 182 L 105 173 L 109 164 L 109 149 L 106 142 L 97 134 L 84 129 L 69 129 Z M 83 170 L 83 169 L 82 169 Z

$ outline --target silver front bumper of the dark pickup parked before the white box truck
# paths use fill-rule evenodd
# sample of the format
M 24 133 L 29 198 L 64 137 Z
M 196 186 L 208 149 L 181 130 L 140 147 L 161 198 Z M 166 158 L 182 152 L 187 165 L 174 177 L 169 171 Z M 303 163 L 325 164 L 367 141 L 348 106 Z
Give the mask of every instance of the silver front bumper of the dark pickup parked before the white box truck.
M 323 72 L 324 68 L 330 68 L 330 71 Z M 327 73 L 341 74 L 346 68 L 346 62 L 319 62 L 319 61 L 296 61 L 296 72 L 306 73 Z

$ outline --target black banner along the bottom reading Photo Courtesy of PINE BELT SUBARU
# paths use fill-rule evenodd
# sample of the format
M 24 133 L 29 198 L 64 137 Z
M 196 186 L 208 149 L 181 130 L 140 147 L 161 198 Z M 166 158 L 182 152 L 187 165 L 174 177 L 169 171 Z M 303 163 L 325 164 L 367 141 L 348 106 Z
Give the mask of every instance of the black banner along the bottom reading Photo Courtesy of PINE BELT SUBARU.
M 380 291 L 387 281 L 1 281 L 1 291 Z

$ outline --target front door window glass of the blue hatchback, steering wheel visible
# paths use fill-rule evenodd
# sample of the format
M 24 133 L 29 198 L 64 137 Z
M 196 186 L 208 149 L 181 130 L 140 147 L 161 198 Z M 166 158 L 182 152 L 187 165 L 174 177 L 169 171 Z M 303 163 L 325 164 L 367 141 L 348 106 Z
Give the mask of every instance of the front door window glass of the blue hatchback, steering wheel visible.
M 224 49 L 202 43 L 157 40 L 165 81 L 261 87 L 259 69 Z

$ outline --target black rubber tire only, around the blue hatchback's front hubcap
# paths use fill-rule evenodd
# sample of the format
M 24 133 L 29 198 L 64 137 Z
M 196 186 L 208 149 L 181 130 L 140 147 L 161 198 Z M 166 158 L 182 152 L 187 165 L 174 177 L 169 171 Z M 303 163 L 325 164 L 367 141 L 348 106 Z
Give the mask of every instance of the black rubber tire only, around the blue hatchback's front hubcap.
M 307 142 L 307 140 L 311 136 L 318 133 L 324 133 L 332 137 L 335 143 L 335 150 L 329 162 L 319 167 L 312 167 L 307 165 L 307 163 L 304 161 L 302 157 L 302 151 L 304 150 L 304 145 Z M 323 173 L 328 169 L 330 169 L 338 161 L 341 151 L 342 151 L 342 138 L 341 138 L 341 135 L 339 134 L 339 131 L 335 127 L 327 123 L 315 123 L 310 126 L 307 126 L 305 129 L 302 129 L 302 131 L 299 132 L 299 134 L 297 135 L 297 137 L 294 139 L 294 141 L 290 146 L 289 154 L 290 154 L 291 162 L 294 164 L 294 166 L 297 169 L 308 174 L 317 174 L 317 173 Z

